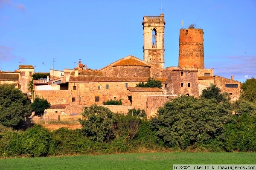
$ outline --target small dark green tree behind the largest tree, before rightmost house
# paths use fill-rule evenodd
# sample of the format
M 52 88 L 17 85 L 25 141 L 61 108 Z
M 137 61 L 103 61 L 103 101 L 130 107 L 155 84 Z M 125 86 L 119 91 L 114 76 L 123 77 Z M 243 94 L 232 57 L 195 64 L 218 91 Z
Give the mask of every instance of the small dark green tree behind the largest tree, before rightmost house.
M 218 88 L 216 85 L 203 89 L 201 98 L 207 98 L 207 99 L 215 98 L 218 102 L 229 100 L 227 94 L 221 94 L 221 89 Z

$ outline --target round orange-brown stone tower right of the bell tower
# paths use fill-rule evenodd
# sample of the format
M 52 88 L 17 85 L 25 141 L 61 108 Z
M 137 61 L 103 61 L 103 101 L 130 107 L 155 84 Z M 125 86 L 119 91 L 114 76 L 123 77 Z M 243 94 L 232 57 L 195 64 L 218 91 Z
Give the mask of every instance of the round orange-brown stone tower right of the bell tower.
M 179 67 L 204 69 L 203 29 L 180 29 Z

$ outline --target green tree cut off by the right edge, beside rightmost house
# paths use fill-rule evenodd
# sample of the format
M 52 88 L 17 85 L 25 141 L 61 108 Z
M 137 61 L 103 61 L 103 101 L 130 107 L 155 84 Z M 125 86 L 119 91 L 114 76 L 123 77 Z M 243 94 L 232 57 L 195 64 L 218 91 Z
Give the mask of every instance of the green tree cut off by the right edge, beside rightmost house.
M 247 79 L 242 84 L 243 92 L 241 93 L 241 98 L 247 101 L 256 102 L 256 79 Z

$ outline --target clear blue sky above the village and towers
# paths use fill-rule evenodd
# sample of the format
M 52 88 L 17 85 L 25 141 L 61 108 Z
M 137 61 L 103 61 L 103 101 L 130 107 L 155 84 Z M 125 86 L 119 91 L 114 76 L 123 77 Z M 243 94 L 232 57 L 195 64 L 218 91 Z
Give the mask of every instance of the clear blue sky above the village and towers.
M 0 0 L 0 69 L 101 69 L 128 55 L 143 60 L 143 16 L 165 15 L 165 67 L 178 66 L 179 31 L 204 30 L 205 68 L 256 77 L 255 0 Z M 76 63 L 75 63 L 76 62 Z M 44 64 L 43 64 L 44 63 Z

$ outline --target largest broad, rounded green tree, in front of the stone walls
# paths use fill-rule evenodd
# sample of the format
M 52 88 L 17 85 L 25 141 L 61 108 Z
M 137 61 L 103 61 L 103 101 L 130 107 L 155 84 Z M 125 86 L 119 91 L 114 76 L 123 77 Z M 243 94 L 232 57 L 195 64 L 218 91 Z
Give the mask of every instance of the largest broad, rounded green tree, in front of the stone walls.
M 227 102 L 184 95 L 166 102 L 157 112 L 151 120 L 152 130 L 166 146 L 182 149 L 221 135 L 231 119 Z

